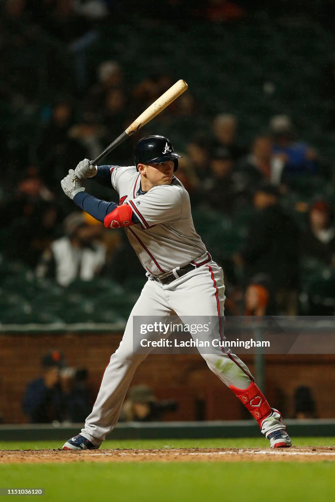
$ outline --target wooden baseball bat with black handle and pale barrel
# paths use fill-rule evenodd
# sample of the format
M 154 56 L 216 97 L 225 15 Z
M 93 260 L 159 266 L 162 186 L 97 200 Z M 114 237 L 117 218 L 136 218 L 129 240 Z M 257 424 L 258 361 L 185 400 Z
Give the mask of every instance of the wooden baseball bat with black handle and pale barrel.
M 152 103 L 146 110 L 144 110 L 141 115 L 139 115 L 134 122 L 124 131 L 113 143 L 100 153 L 96 159 L 90 161 L 91 166 L 95 166 L 99 160 L 103 159 L 109 152 L 118 147 L 122 142 L 124 142 L 129 136 L 145 126 L 152 118 L 163 111 L 167 106 L 169 106 L 172 101 L 177 99 L 180 94 L 185 92 L 187 89 L 187 83 L 184 80 L 178 80 L 173 84 L 164 94 L 162 94 L 154 103 Z

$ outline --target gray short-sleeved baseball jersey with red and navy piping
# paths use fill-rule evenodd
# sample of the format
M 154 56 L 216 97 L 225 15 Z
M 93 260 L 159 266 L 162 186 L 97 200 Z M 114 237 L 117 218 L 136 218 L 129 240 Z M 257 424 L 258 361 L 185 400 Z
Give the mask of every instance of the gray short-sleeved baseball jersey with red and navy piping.
M 110 170 L 111 184 L 121 203 L 128 203 L 140 220 L 125 230 L 147 272 L 159 275 L 190 262 L 209 261 L 194 228 L 189 195 L 175 176 L 171 185 L 156 186 L 141 195 L 135 166 Z

